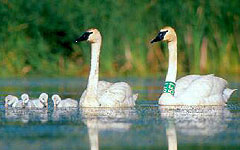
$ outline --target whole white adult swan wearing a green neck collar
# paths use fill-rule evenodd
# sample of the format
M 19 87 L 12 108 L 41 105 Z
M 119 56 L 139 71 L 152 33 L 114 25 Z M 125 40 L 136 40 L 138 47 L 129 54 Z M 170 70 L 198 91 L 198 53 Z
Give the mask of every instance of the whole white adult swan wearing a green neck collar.
M 188 75 L 176 81 L 177 35 L 173 28 L 164 27 L 151 43 L 168 42 L 169 66 L 160 105 L 225 105 L 236 90 L 227 88 L 227 81 L 214 75 Z M 175 91 L 176 85 L 176 91 Z M 175 94 L 174 94 L 175 91 Z

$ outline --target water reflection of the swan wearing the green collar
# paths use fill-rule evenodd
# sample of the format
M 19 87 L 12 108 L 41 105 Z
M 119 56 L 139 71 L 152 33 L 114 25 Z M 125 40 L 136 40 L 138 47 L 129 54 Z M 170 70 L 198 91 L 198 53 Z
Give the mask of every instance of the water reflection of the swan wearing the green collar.
M 159 106 L 166 121 L 168 149 L 177 150 L 177 132 L 209 137 L 224 131 L 231 112 L 224 106 Z

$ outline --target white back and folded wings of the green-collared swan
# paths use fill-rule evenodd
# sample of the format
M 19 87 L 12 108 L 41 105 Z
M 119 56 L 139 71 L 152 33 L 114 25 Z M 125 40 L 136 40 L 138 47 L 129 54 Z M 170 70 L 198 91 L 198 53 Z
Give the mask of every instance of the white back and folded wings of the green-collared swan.
M 230 91 L 225 90 L 228 90 L 227 81 L 222 78 L 212 74 L 189 75 L 176 82 L 175 97 L 188 105 L 224 105 L 226 97 L 230 97 Z

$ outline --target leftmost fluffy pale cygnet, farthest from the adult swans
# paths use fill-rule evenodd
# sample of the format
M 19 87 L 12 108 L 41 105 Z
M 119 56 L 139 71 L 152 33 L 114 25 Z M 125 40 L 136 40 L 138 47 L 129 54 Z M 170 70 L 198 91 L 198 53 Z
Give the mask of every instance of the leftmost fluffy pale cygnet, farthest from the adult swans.
M 23 108 L 23 100 L 18 100 L 16 96 L 8 95 L 5 97 L 5 108 L 8 106 Z

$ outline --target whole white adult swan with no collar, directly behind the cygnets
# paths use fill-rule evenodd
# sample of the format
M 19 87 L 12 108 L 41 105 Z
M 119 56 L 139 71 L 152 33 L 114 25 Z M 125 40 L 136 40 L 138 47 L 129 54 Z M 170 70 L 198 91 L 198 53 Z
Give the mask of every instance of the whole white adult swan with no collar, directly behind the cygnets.
M 131 87 L 125 82 L 110 83 L 98 81 L 99 55 L 102 37 L 97 29 L 89 29 L 78 41 L 91 43 L 91 69 L 87 89 L 83 92 L 81 107 L 133 107 L 137 94 L 132 94 Z

